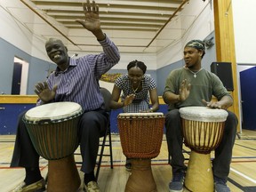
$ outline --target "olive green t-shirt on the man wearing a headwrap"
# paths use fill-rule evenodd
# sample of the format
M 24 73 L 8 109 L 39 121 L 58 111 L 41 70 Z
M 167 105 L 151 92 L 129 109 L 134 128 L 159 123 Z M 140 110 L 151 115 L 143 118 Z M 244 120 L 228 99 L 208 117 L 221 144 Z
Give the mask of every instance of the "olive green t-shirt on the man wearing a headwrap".
M 184 79 L 187 79 L 188 83 L 191 84 L 189 96 L 187 100 L 170 104 L 169 109 L 188 106 L 205 106 L 202 100 L 210 101 L 212 100 L 212 95 L 215 96 L 217 100 L 220 100 L 225 95 L 231 97 L 220 81 L 220 78 L 204 68 L 196 73 L 196 77 L 187 68 L 172 70 L 166 79 L 164 93 L 173 92 L 179 94 L 180 84 Z

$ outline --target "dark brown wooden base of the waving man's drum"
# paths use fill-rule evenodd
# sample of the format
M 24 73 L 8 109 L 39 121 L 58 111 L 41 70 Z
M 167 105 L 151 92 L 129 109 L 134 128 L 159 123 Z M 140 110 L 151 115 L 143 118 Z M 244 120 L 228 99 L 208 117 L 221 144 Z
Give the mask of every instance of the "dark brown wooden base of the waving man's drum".
M 47 192 L 76 192 L 80 184 L 73 155 L 49 160 Z

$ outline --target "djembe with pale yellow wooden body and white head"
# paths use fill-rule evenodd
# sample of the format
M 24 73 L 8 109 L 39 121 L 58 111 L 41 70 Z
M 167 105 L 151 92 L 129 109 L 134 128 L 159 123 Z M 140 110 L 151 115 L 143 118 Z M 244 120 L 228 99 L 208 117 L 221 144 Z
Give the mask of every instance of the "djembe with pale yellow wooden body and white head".
M 185 145 L 191 149 L 185 188 L 213 191 L 211 151 L 220 144 L 228 112 L 207 107 L 180 108 Z

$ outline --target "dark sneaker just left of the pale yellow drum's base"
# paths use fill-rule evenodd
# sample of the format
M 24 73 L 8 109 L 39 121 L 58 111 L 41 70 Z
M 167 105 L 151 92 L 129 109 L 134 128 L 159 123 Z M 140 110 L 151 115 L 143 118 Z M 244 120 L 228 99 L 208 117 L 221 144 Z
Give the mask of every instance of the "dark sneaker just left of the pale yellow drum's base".
M 184 179 L 185 179 L 184 172 L 174 173 L 172 177 L 172 181 L 169 183 L 169 192 L 182 192 Z

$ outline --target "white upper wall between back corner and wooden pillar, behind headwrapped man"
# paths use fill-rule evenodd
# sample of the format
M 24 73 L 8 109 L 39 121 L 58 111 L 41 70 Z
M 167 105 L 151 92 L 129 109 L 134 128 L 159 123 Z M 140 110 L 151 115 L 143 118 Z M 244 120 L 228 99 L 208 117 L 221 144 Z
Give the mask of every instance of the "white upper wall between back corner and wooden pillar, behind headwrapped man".
M 183 58 L 184 45 L 191 39 L 201 39 L 212 33 L 214 30 L 214 17 L 212 1 L 190 0 L 176 18 L 172 20 L 167 28 L 188 28 L 180 34 L 181 40 L 173 42 L 163 52 L 157 54 L 157 68 L 162 68 Z

